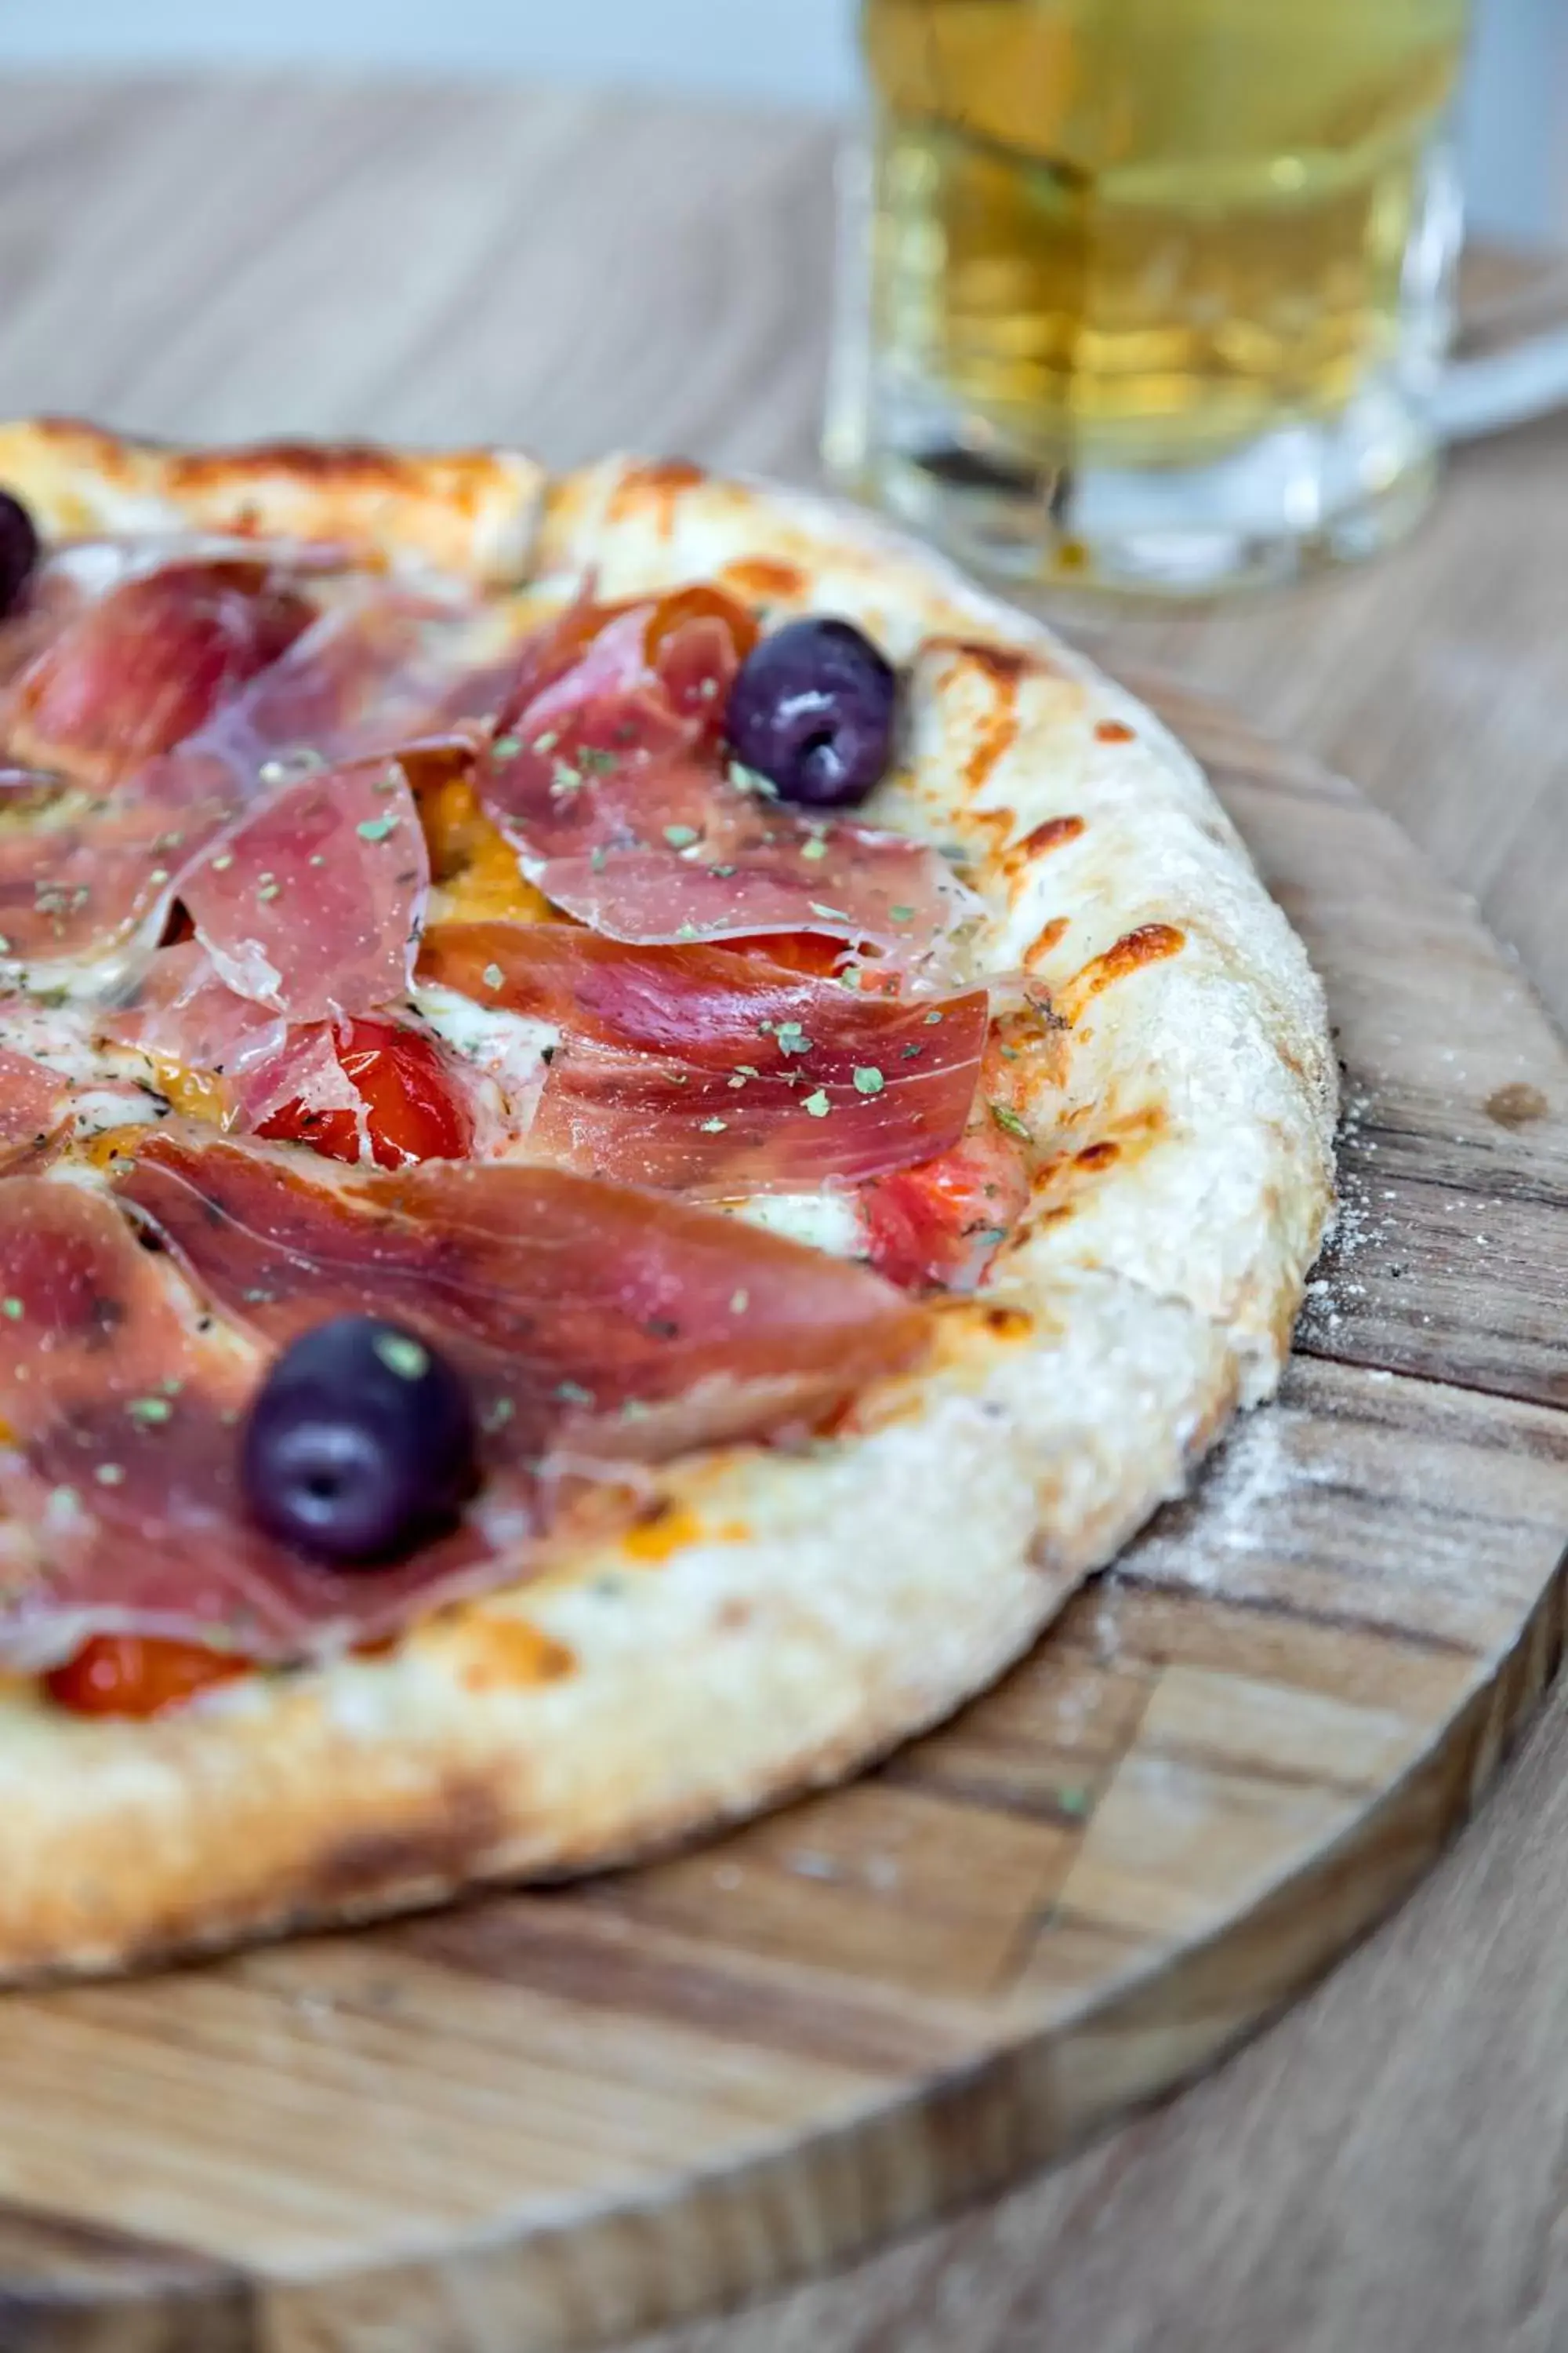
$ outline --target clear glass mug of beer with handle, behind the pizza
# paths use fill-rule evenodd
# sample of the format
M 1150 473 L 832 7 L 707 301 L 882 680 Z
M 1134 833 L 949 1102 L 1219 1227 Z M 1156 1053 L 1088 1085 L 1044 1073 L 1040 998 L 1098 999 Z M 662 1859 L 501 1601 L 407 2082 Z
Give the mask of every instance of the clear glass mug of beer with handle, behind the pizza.
M 1467 14 L 863 0 L 830 471 L 1018 581 L 1201 595 L 1396 539 L 1443 431 L 1568 391 L 1561 334 L 1448 362 Z

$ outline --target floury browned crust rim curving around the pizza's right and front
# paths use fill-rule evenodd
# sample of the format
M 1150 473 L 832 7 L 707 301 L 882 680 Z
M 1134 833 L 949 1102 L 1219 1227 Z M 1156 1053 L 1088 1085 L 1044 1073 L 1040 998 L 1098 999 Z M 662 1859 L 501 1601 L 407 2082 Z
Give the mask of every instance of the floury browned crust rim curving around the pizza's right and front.
M 73 492 L 99 518 L 118 494 Z M 938 1308 L 933 1362 L 832 1442 L 670 1466 L 630 1537 L 390 1657 L 155 1722 L 14 1687 L 5 1977 L 597 1868 L 837 1781 L 1027 1649 L 1279 1374 L 1331 1209 L 1333 1056 L 1185 751 L 1046 631 L 820 501 L 611 461 L 543 504 L 541 595 L 590 565 L 604 598 L 724 576 L 773 616 L 846 612 L 910 664 L 870 814 L 961 847 L 976 969 L 1056 995 L 1060 1052 L 1016 1096 L 1032 1209 L 983 1299 Z

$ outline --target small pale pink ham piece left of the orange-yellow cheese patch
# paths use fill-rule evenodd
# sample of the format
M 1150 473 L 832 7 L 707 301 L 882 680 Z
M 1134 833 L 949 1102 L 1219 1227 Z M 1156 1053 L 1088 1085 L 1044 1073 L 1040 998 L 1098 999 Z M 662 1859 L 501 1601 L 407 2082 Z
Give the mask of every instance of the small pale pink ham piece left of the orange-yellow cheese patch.
M 430 889 L 400 767 L 301 776 L 230 826 L 181 899 L 219 979 L 292 1021 L 386 1005 L 409 986 Z

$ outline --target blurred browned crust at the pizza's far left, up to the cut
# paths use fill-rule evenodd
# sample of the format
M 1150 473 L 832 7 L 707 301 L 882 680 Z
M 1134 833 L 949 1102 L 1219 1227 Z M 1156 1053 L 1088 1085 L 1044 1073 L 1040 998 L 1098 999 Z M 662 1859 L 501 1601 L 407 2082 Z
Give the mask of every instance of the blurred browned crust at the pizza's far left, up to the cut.
M 503 588 L 527 569 L 543 485 L 543 466 L 520 449 L 181 449 L 71 416 L 0 424 L 0 487 L 49 539 L 303 539 Z

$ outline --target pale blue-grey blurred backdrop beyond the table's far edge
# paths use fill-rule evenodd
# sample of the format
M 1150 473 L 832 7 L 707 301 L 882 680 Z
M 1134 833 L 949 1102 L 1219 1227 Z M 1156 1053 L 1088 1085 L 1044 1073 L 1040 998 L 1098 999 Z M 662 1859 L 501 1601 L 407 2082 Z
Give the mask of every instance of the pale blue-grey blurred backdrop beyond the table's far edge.
M 0 64 L 510 73 L 842 111 L 853 14 L 856 0 L 0 0 Z M 1493 235 L 1563 235 L 1568 0 L 1481 0 L 1479 19 L 1472 216 Z

